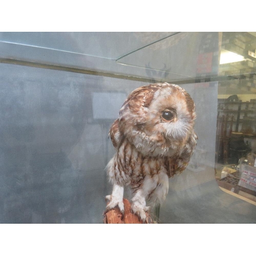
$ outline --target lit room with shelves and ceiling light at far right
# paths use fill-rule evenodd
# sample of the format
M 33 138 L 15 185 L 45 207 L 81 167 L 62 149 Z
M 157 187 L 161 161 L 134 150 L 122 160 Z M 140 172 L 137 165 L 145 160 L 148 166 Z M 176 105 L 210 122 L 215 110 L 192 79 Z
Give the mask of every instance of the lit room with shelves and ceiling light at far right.
M 227 193 L 256 205 L 255 33 L 223 33 L 219 74 L 216 178 Z M 238 79 L 239 78 L 239 79 Z

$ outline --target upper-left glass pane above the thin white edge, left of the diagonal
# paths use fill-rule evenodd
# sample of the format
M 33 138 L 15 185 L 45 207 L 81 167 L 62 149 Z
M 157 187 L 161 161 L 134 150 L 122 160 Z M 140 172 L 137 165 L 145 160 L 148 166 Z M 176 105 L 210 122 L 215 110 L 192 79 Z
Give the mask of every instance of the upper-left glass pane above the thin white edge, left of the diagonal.
M 173 33 L 156 32 L 145 38 L 152 43 Z M 145 45 L 132 32 L 1 32 L 0 41 L 108 59 L 117 59 Z

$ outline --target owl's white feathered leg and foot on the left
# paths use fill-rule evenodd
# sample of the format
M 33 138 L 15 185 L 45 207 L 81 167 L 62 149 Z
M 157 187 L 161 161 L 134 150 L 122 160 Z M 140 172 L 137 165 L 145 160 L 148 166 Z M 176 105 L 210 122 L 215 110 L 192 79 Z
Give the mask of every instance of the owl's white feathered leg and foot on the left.
M 124 214 L 123 186 L 114 184 L 112 195 L 106 196 L 105 199 L 110 201 L 106 206 L 106 210 L 111 210 L 118 206 L 122 214 Z

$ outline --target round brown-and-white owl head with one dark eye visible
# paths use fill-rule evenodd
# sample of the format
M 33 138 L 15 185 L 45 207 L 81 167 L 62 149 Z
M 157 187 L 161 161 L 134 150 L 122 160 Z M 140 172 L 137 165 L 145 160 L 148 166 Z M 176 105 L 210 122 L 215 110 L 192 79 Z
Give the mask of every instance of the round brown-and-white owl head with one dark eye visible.
M 119 130 L 145 156 L 173 156 L 194 133 L 195 104 L 176 84 L 134 90 L 119 112 Z

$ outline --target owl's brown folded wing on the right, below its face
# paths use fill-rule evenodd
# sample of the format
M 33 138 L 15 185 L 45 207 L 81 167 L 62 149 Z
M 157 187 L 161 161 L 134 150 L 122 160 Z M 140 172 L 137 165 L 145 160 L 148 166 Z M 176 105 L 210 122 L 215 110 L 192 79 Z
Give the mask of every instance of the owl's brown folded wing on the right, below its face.
M 187 167 L 190 157 L 193 155 L 194 149 L 197 145 L 197 135 L 194 132 L 188 138 L 183 151 L 177 158 L 166 159 L 165 165 L 168 177 L 174 177 L 175 174 L 182 173 Z

